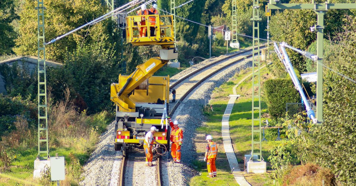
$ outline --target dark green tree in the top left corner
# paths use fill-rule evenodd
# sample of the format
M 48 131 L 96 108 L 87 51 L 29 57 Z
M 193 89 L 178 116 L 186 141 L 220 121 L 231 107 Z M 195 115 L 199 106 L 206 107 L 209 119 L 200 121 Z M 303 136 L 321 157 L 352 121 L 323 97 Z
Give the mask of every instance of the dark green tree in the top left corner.
M 0 1 L 0 55 L 12 52 L 16 32 L 11 22 L 17 18 L 13 0 Z

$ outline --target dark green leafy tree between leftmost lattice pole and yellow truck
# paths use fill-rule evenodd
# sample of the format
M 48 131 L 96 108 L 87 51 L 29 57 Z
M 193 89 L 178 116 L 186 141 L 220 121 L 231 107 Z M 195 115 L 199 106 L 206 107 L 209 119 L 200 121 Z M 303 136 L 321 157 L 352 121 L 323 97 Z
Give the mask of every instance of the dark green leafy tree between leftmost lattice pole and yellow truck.
M 117 82 L 120 71 L 116 60 L 112 48 L 98 45 L 79 47 L 67 54 L 62 68 L 49 69 L 48 86 L 52 87 L 57 100 L 64 97 L 63 92 L 68 87 L 73 99 L 84 100 L 85 104 L 77 106 L 87 105 L 88 113 L 111 108 L 110 84 Z

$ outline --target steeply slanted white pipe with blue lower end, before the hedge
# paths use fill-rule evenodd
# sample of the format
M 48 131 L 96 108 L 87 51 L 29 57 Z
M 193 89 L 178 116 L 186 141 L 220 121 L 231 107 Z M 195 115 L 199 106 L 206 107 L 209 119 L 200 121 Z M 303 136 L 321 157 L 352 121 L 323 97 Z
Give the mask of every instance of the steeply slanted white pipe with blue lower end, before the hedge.
M 295 86 L 297 86 L 298 91 L 299 91 L 299 93 L 300 93 L 300 96 L 302 96 L 302 99 L 303 99 L 303 101 L 304 101 L 304 105 L 305 105 L 305 107 L 307 108 L 308 117 L 309 117 L 310 119 L 312 119 L 313 123 L 317 123 L 318 120 L 316 120 L 316 118 L 315 118 L 315 113 L 314 113 L 314 111 L 310 108 L 309 103 L 308 103 L 308 100 L 307 100 L 307 97 L 305 97 L 305 94 L 304 94 L 304 92 L 303 92 L 302 86 L 300 86 L 300 83 L 299 83 L 299 80 L 298 80 L 298 78 L 297 78 L 297 75 L 296 75 L 295 72 L 294 72 L 292 63 L 291 63 L 290 60 L 289 60 L 289 57 L 288 57 L 286 48 L 284 48 L 284 47 L 281 46 L 281 49 L 282 49 L 282 53 L 283 53 L 283 56 L 284 56 L 284 60 L 286 60 L 286 63 L 288 64 L 288 67 L 289 67 L 290 72 L 291 72 L 291 74 L 292 74 L 291 78 L 294 78 L 295 82 L 297 82 L 297 84 L 296 84 Z

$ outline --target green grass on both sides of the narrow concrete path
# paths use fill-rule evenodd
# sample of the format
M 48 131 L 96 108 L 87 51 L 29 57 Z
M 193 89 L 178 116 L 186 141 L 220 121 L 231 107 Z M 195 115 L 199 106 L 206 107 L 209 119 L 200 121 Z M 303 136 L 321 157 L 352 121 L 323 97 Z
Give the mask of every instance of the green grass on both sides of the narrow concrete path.
M 205 115 L 207 116 L 207 122 L 205 126 L 201 126 L 197 128 L 197 133 L 208 133 L 208 134 L 215 134 L 217 135 L 214 139 L 220 139 L 221 138 L 221 119 L 223 117 L 223 114 L 225 112 L 225 108 L 227 106 L 227 102 L 229 101 L 229 96 L 232 94 L 232 87 L 235 86 L 241 79 L 243 79 L 246 75 L 251 73 L 251 69 L 242 71 L 240 74 L 236 75 L 235 77 L 231 78 L 229 81 L 225 82 L 223 85 L 220 87 L 216 88 L 213 92 L 212 99 L 209 101 L 209 104 L 212 105 L 213 107 L 213 112 L 205 112 Z M 269 73 L 267 68 L 264 68 L 261 70 L 261 76 L 266 75 Z M 244 161 L 243 157 L 245 154 L 251 153 L 251 116 L 252 116 L 252 111 L 251 111 L 251 78 L 247 78 L 239 87 L 237 87 L 237 94 L 240 94 L 241 97 L 239 97 L 236 102 L 234 107 L 232 108 L 232 113 L 230 115 L 230 135 L 232 138 L 232 142 L 234 143 L 234 150 L 235 153 L 237 154 L 237 161 L 239 161 L 240 168 L 243 169 Z M 255 104 L 258 103 L 258 100 L 255 100 Z M 267 105 L 261 100 L 261 113 L 267 112 Z M 256 111 L 254 113 L 255 117 L 258 117 L 258 112 Z M 266 118 L 262 118 L 266 119 Z M 255 123 L 257 125 L 258 122 Z M 219 136 L 220 135 L 220 136 Z M 262 157 L 265 159 L 265 161 L 268 161 L 267 158 L 270 155 L 269 150 L 272 149 L 273 146 L 283 142 L 283 141 L 274 141 L 277 137 L 277 132 L 273 135 L 273 133 L 268 133 L 269 136 L 267 137 L 268 142 L 263 142 L 262 143 Z M 257 138 L 256 138 L 257 139 Z M 219 147 L 218 147 L 219 148 Z M 222 147 L 220 147 L 221 149 Z M 221 151 L 220 151 L 221 152 Z M 222 153 L 224 154 L 224 153 Z M 221 158 L 225 159 L 226 164 L 225 165 L 220 165 L 220 170 L 218 170 L 218 176 L 221 174 L 221 177 L 217 178 L 219 181 L 221 180 L 221 183 L 233 183 L 233 185 L 236 185 L 236 182 L 233 179 L 233 177 L 230 177 L 230 167 L 227 162 L 226 156 L 221 155 Z M 222 160 L 223 161 L 223 160 Z M 206 165 L 204 164 L 205 171 L 203 168 L 200 168 L 199 163 L 197 163 L 198 166 L 198 171 L 202 170 L 204 175 L 200 176 L 195 176 L 193 179 L 190 181 L 190 185 L 199 185 L 203 183 L 204 181 L 209 181 L 205 180 L 205 175 L 206 172 Z M 267 164 L 267 169 L 269 169 L 270 166 Z M 225 176 L 225 174 L 228 174 Z M 250 182 L 253 185 L 273 185 L 273 181 L 271 178 L 269 178 L 268 174 L 253 174 L 253 175 L 246 175 L 246 179 L 248 182 Z M 203 180 L 201 182 L 197 180 Z M 218 181 L 215 182 L 206 182 L 205 185 L 216 185 L 218 184 Z M 227 184 L 222 184 L 222 185 L 227 185 Z M 230 184 L 229 184 L 230 185 Z

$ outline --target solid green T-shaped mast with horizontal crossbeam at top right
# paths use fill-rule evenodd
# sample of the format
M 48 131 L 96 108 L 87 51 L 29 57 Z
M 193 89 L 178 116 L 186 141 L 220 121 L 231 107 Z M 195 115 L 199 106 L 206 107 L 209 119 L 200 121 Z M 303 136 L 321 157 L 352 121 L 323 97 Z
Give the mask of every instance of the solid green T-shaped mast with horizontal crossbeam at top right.
M 318 15 L 318 22 L 315 25 L 318 63 L 316 64 L 316 119 L 318 123 L 323 122 L 323 39 L 324 39 L 324 15 L 330 9 L 356 9 L 355 3 L 312 3 L 309 4 L 277 4 L 274 0 L 269 0 L 268 9 L 304 9 L 314 10 Z M 310 25 L 311 26 L 311 25 Z M 281 28 L 282 29 L 282 28 Z

